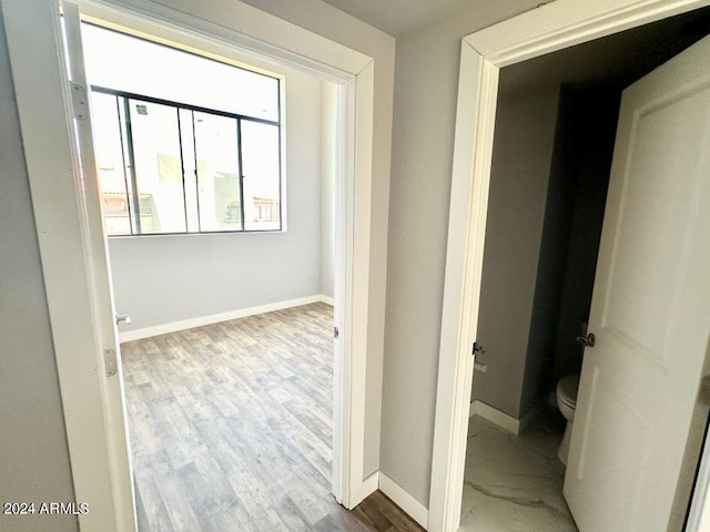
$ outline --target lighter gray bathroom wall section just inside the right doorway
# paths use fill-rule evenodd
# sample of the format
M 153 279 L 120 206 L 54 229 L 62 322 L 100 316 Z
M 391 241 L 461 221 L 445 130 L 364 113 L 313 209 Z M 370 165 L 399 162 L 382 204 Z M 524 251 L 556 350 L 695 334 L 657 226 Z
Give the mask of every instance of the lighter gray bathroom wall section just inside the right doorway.
M 475 374 L 473 397 L 515 418 L 523 413 L 558 94 L 500 94 L 496 115 L 477 334 L 488 371 Z

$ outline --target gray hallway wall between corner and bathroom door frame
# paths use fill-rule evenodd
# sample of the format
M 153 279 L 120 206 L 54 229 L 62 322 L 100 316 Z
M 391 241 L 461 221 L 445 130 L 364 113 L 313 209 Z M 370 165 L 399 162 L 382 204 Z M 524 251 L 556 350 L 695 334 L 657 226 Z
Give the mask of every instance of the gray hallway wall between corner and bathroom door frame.
M 534 8 L 471 1 L 397 40 L 381 469 L 428 505 L 462 38 Z

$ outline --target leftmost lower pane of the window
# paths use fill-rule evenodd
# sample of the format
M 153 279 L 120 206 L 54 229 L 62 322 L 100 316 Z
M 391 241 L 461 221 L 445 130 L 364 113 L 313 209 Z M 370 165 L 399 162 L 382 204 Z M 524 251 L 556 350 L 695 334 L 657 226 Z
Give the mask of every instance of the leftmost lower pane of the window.
M 91 95 L 94 152 L 108 235 L 131 234 L 131 204 L 125 181 L 118 99 Z

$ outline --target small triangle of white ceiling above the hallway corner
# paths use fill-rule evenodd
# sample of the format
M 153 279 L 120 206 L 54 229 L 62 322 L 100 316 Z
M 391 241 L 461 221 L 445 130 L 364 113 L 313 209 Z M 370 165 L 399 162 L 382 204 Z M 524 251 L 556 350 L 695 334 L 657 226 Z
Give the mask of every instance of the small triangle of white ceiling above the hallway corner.
M 324 0 L 394 37 L 445 19 L 477 0 Z

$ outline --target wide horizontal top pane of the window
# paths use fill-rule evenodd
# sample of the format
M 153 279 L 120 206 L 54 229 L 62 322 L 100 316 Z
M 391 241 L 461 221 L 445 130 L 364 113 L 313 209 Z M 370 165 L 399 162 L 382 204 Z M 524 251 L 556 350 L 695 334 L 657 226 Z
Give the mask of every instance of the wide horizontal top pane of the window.
M 276 78 L 98 25 L 82 38 L 92 85 L 278 121 Z

